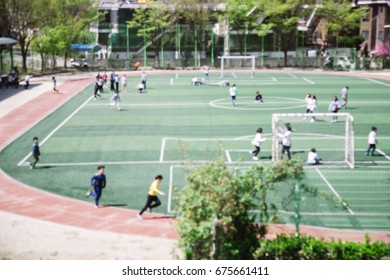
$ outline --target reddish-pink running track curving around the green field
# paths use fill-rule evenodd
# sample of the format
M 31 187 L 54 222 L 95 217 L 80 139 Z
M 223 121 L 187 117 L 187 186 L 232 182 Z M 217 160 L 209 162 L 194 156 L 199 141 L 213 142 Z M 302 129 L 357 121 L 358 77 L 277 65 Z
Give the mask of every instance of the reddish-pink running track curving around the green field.
M 278 72 L 280 73 L 280 70 Z M 316 72 L 311 71 L 311 73 Z M 139 72 L 127 74 L 128 76 L 140 75 Z M 318 74 L 324 74 L 324 72 Z M 390 73 L 343 72 L 337 74 L 390 80 Z M 10 95 L 6 99 L 0 98 L 0 150 L 83 90 L 86 85 L 94 81 L 94 75 L 96 73 L 83 73 L 77 76 L 57 75 L 57 88 L 60 90 L 60 94 L 53 94 L 50 90 L 51 77 L 42 77 L 39 80 L 33 78 L 31 89 Z M 36 84 L 37 81 L 39 81 L 39 85 Z M 3 90 L 0 91 L 0 96 L 3 93 Z M 139 221 L 136 218 L 137 212 L 133 210 L 115 207 L 95 209 L 91 203 L 61 197 L 27 186 L 9 177 L 2 170 L 0 170 L 0 211 L 96 231 L 136 234 L 170 240 L 178 239 L 175 220 L 172 218 L 145 213 L 144 220 Z M 273 226 L 270 229 L 269 237 L 272 238 L 276 233 L 293 231 L 294 227 L 292 226 Z M 301 232 L 326 239 L 351 241 L 364 241 L 366 234 L 362 231 L 313 227 L 301 227 Z M 390 242 L 390 234 L 386 232 L 370 232 L 370 237 L 372 240 Z

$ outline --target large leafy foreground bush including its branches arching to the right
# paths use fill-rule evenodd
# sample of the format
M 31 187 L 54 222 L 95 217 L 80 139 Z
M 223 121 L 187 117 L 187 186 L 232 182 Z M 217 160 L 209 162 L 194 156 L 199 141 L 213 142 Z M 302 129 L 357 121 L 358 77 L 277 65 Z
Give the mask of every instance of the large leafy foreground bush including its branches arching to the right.
M 178 207 L 186 257 L 253 259 L 265 227 L 254 224 L 251 210 L 260 208 L 261 222 L 272 222 L 267 193 L 280 182 L 295 184 L 302 176 L 302 162 L 294 160 L 257 164 L 243 175 L 233 173 L 224 159 L 190 170 Z

